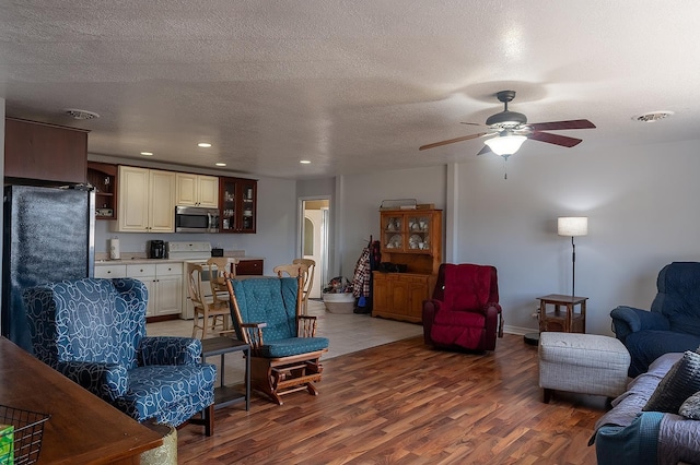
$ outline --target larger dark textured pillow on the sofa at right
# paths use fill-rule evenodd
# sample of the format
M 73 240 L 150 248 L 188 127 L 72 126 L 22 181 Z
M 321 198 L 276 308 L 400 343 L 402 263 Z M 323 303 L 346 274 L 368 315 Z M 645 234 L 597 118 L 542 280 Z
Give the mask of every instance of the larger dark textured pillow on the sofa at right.
M 677 414 L 680 405 L 700 391 L 700 354 L 686 350 L 668 370 L 642 410 Z

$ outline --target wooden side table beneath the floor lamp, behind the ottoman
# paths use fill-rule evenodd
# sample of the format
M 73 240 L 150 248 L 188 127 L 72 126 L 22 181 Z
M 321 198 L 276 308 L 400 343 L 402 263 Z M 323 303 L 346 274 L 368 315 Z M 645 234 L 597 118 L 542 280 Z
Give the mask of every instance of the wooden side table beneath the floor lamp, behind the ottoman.
M 550 294 L 537 298 L 539 300 L 539 331 L 561 331 L 564 333 L 586 332 L 587 297 L 563 296 Z M 553 306 L 548 311 L 547 306 Z M 563 311 L 562 311 L 563 307 Z M 580 307 L 576 311 L 576 307 Z

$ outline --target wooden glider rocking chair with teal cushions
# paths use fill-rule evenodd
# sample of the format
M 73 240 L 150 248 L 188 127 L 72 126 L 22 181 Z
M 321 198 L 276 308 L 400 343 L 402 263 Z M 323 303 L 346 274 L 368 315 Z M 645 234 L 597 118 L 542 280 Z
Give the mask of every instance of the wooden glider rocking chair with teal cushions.
M 250 345 L 250 384 L 278 405 L 301 390 L 318 395 L 328 351 L 328 339 L 315 336 L 316 317 L 301 314 L 302 285 L 302 277 L 226 279 L 236 335 Z

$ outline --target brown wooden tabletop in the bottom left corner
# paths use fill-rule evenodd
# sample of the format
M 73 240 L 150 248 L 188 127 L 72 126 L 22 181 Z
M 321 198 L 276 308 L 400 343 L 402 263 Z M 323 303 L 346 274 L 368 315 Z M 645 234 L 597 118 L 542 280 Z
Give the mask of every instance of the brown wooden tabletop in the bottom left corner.
M 0 404 L 50 415 L 39 464 L 138 464 L 163 439 L 0 337 Z

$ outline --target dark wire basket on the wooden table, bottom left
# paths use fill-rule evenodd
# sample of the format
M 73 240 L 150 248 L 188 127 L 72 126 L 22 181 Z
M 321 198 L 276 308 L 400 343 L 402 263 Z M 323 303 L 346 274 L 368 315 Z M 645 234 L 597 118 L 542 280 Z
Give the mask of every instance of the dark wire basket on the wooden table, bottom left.
M 39 460 L 44 424 L 49 415 L 0 405 L 0 424 L 14 427 L 14 464 L 33 464 Z M 7 433 L 9 436 L 12 433 Z

